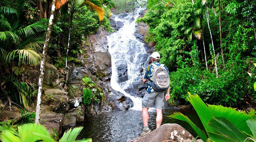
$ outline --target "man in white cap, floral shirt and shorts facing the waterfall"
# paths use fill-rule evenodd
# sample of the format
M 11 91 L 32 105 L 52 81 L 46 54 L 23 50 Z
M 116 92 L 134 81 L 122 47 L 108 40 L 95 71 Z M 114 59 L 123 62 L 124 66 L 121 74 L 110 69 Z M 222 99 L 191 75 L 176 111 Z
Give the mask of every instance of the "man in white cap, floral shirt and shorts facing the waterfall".
M 150 55 L 151 61 L 157 65 L 160 66 L 160 54 L 158 52 L 152 53 Z M 166 71 L 168 72 L 168 69 L 166 66 L 164 66 Z M 153 81 L 153 71 L 154 66 L 149 65 L 144 70 L 144 76 L 142 78 L 142 81 L 145 83 L 146 81 L 149 81 L 148 83 L 148 89 L 146 94 L 143 97 L 142 100 L 142 120 L 143 120 L 143 131 L 140 136 L 145 136 L 147 133 L 150 132 L 150 129 L 148 128 L 148 120 L 149 120 L 149 114 L 148 109 L 149 108 L 156 108 L 156 128 L 159 128 L 162 123 L 162 107 L 164 107 L 164 98 L 165 100 L 170 99 L 170 87 L 167 89 L 166 94 L 164 95 L 164 92 L 156 92 L 151 87 L 151 83 Z M 169 72 L 168 72 L 169 73 Z

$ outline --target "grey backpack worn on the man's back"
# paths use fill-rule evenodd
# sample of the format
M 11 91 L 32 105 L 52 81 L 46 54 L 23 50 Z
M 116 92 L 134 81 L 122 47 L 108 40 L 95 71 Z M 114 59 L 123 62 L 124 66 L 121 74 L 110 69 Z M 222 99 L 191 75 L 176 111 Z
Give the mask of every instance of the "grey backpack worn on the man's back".
M 151 83 L 152 89 L 157 92 L 166 91 L 170 87 L 170 78 L 164 64 L 157 66 L 152 63 L 150 65 L 154 66 L 153 82 Z

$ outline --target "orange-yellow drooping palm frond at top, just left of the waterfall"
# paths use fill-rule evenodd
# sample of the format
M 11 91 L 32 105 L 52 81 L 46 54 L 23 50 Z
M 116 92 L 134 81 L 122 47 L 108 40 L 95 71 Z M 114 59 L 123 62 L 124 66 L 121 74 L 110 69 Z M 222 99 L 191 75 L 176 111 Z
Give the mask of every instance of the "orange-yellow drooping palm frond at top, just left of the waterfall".
M 92 9 L 96 10 L 99 16 L 99 20 L 102 21 L 104 17 L 104 10 L 102 8 L 101 2 L 98 0 L 87 0 L 83 2 L 84 5 L 90 6 Z

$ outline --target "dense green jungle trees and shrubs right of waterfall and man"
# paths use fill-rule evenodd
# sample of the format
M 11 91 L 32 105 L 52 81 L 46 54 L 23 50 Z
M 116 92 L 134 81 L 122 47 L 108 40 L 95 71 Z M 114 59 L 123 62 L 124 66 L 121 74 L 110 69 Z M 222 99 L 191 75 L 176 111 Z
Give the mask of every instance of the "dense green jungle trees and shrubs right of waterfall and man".
M 149 25 L 169 68 L 171 97 L 187 102 L 187 92 L 204 102 L 255 106 L 255 0 L 148 0 L 137 22 Z

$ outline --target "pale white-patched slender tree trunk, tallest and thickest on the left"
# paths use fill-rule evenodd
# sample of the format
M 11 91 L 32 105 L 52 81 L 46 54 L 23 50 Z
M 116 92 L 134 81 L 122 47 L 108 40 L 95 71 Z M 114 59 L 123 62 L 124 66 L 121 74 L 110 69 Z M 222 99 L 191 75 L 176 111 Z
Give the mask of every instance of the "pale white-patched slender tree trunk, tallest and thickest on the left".
M 43 47 L 42 61 L 41 61 L 41 66 L 40 66 L 40 76 L 39 76 L 39 81 L 38 81 L 37 107 L 36 107 L 36 119 L 35 119 L 36 124 L 40 123 L 41 95 L 43 92 L 45 63 L 46 63 L 46 56 L 47 56 L 47 49 L 49 46 L 50 35 L 52 33 L 55 4 L 56 4 L 56 0 L 52 0 L 52 10 L 51 10 L 49 25 L 48 25 L 47 33 L 46 33 L 46 40 L 44 42 L 44 47 Z

